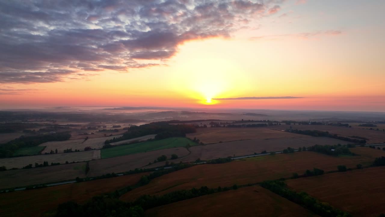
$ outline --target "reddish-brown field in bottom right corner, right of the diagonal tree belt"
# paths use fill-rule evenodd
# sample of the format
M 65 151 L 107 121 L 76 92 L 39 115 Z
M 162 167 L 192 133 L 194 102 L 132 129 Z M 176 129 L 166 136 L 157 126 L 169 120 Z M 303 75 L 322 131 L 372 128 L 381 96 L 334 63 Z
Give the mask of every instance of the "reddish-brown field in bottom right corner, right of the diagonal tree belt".
M 353 216 L 377 217 L 384 212 L 385 167 L 365 168 L 287 180 L 291 188 L 305 191 Z

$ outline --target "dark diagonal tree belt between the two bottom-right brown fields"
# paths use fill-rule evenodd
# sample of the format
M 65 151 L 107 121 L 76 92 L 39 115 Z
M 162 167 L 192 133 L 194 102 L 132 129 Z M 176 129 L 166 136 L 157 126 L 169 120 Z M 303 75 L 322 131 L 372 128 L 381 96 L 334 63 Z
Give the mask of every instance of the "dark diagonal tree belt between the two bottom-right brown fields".
M 323 203 L 317 200 L 316 198 L 311 197 L 306 192 L 295 192 L 287 187 L 286 183 L 283 181 L 264 181 L 261 183 L 263 188 L 274 192 L 281 197 L 284 197 L 294 203 L 297 203 L 307 209 L 311 210 L 317 215 L 324 217 L 350 217 L 347 212 L 342 210 L 335 209 L 328 203 Z

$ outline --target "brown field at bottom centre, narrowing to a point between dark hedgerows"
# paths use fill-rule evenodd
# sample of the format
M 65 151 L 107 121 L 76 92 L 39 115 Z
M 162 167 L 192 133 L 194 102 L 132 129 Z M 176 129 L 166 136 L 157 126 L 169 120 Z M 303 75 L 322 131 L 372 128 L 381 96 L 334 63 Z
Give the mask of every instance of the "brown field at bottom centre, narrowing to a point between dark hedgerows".
M 197 209 L 199 207 L 199 209 Z M 236 209 L 234 209 L 236 208 Z M 260 186 L 250 186 L 182 200 L 146 211 L 146 216 L 318 216 Z

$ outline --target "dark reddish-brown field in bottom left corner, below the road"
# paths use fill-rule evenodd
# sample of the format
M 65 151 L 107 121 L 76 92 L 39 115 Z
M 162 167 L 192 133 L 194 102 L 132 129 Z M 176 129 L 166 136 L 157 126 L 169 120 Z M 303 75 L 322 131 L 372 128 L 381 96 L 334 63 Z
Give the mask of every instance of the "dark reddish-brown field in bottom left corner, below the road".
M 146 173 L 5 193 L 0 197 L 0 215 L 39 217 L 43 212 L 55 210 L 60 203 L 69 200 L 84 203 L 96 195 L 134 185 L 143 175 Z

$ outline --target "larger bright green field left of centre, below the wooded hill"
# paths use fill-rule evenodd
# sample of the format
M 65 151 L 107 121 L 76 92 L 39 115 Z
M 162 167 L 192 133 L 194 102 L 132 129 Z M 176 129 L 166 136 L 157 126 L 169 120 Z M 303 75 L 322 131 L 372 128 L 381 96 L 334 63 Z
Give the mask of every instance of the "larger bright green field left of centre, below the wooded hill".
M 196 145 L 190 139 L 184 137 L 171 137 L 167 139 L 161 139 L 156 141 L 139 142 L 135 144 L 121 145 L 100 150 L 100 156 L 104 158 L 112 158 L 129 154 L 136 154 L 146 151 L 155 151 L 173 147 L 186 147 Z

